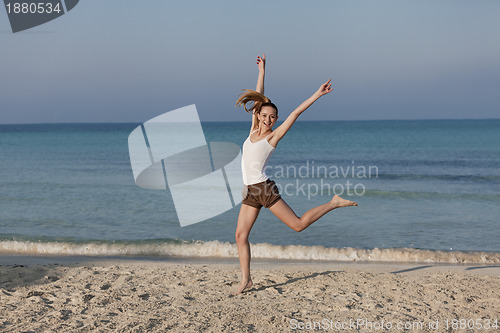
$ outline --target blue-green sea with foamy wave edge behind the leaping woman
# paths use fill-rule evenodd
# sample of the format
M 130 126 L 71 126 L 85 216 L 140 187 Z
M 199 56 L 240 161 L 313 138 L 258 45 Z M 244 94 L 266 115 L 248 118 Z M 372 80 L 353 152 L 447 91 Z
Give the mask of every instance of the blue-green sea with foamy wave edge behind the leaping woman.
M 139 124 L 0 125 L 0 253 L 237 256 L 239 205 L 181 228 L 168 190 L 135 185 L 127 139 Z M 203 123 L 242 145 L 248 123 Z M 500 120 L 297 122 L 269 176 L 301 233 L 262 209 L 254 257 L 500 262 Z

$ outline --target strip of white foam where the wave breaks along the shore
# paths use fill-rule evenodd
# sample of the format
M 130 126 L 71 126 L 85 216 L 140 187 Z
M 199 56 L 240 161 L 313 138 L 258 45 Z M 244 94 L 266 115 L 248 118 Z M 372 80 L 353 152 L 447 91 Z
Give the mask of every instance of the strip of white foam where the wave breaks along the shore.
M 141 243 L 70 243 L 0 241 L 0 254 L 22 255 L 92 255 L 92 256 L 183 256 L 219 257 L 238 256 L 236 244 L 208 242 L 141 242 Z M 429 263 L 500 263 L 498 252 L 435 251 L 412 248 L 358 249 L 326 248 L 323 246 L 252 244 L 253 258 L 382 261 Z

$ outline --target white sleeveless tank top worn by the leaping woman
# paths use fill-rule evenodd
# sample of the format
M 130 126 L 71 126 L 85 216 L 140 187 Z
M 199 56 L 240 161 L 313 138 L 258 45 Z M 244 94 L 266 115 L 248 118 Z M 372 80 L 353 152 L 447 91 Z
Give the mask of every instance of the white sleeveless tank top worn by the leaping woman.
M 250 133 L 243 143 L 241 171 L 243 173 L 243 184 L 245 185 L 261 183 L 269 178 L 266 175 L 265 169 L 275 149 L 267 141 L 267 136 L 265 139 L 257 142 L 250 141 L 250 136 L 255 132 Z

